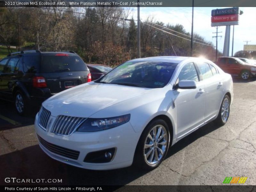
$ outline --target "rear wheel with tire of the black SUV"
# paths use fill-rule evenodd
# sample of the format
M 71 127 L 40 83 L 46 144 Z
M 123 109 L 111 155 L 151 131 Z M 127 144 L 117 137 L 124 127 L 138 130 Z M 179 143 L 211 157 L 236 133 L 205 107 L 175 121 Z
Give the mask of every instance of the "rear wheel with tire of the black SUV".
M 27 115 L 30 107 L 28 106 L 28 99 L 21 91 L 15 92 L 14 104 L 17 113 L 21 116 Z

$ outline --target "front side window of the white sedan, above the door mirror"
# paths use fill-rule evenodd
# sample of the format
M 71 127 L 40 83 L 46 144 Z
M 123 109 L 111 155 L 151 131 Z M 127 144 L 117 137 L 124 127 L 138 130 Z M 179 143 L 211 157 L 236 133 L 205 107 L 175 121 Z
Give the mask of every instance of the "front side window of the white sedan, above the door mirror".
M 181 80 L 193 80 L 198 82 L 198 75 L 194 63 L 187 63 L 180 71 L 178 76 L 179 81 Z

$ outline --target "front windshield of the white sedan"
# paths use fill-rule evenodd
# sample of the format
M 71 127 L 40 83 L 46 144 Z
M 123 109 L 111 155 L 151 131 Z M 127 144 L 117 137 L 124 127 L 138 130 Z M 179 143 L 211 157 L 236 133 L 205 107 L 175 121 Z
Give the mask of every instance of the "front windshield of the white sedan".
M 127 61 L 96 83 L 160 88 L 170 81 L 177 65 L 170 62 Z

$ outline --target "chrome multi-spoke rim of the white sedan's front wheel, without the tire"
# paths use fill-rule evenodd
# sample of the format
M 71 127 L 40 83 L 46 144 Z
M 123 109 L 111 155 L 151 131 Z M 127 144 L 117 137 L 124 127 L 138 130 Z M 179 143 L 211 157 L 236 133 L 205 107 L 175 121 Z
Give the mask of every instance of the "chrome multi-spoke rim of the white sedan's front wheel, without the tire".
M 163 158 L 167 140 L 163 125 L 156 125 L 150 130 L 144 143 L 144 158 L 149 165 L 155 165 Z

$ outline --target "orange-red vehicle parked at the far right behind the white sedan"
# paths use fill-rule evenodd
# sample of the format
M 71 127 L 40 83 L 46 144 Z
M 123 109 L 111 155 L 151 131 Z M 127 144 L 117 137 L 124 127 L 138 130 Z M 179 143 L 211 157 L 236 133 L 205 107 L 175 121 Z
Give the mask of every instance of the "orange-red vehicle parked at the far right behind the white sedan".
M 236 57 L 219 57 L 217 65 L 226 73 L 240 76 L 242 79 L 249 79 L 256 76 L 256 67 L 253 64 L 245 63 Z

